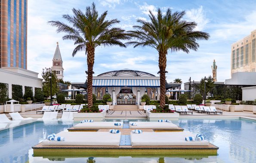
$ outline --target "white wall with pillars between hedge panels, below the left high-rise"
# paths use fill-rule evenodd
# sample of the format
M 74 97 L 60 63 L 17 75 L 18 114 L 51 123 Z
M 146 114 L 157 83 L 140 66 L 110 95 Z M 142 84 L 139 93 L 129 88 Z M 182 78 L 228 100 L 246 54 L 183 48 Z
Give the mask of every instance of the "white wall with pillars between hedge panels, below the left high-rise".
M 35 74 L 38 73 L 21 70 L 20 68 L 17 68 L 15 72 L 14 69 L 12 68 L 12 71 L 9 71 L 8 68 L 0 68 L 0 83 L 7 83 L 9 85 L 9 98 L 12 98 L 12 84 L 21 85 L 23 94 L 25 92 L 25 86 L 33 87 L 33 94 L 35 87 L 42 88 L 43 79 L 35 77 Z

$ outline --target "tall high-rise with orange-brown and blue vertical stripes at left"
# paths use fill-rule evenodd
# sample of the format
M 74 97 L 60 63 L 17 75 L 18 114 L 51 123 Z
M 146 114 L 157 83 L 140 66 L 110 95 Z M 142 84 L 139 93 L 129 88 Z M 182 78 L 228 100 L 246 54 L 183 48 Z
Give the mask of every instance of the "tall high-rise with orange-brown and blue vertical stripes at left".
M 0 2 L 0 68 L 27 69 L 27 0 Z

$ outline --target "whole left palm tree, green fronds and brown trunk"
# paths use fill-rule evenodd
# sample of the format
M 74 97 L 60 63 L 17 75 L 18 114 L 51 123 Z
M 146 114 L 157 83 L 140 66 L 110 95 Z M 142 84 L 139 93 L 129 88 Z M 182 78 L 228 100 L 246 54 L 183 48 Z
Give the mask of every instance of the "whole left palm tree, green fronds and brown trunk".
M 107 11 L 99 16 L 95 3 L 87 6 L 85 13 L 80 9 L 72 9 L 72 15 L 62 15 L 70 25 L 59 21 L 50 21 L 49 24 L 57 27 L 57 33 L 64 32 L 63 40 L 73 40 L 76 45 L 72 56 L 79 51 L 84 51 L 87 55 L 87 91 L 88 108 L 93 106 L 93 65 L 95 59 L 95 48 L 97 46 L 121 46 L 126 47 L 121 40 L 130 40 L 128 34 L 121 28 L 111 27 L 118 24 L 117 19 L 105 20 Z

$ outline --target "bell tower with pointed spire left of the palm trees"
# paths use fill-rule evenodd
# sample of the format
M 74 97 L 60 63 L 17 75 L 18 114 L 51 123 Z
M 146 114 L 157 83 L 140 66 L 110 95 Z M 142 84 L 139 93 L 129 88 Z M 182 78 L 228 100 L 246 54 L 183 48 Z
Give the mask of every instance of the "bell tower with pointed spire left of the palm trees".
M 59 43 L 57 42 L 57 47 L 52 59 L 52 72 L 56 74 L 58 79 L 63 80 L 63 67 L 62 67 L 62 56 L 59 51 Z

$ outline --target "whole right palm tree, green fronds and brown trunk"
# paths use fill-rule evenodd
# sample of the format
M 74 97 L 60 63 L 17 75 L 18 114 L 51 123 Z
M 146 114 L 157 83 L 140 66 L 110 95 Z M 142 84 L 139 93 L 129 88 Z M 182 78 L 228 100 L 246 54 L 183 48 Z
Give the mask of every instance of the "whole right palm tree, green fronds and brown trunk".
M 185 11 L 173 13 L 171 9 L 167 9 L 166 14 L 163 15 L 162 11 L 158 9 L 157 16 L 153 15 L 151 11 L 149 13 L 149 22 L 138 19 L 137 22 L 141 25 L 133 26 L 134 31 L 128 31 L 128 34 L 136 40 L 127 44 L 132 44 L 134 47 L 150 46 L 157 50 L 160 69 L 158 72 L 160 73 L 160 107 L 164 108 L 167 52 L 182 50 L 188 53 L 189 49 L 196 51 L 199 47 L 197 40 L 208 40 L 210 35 L 194 31 L 197 26 L 195 22 L 182 20 Z

